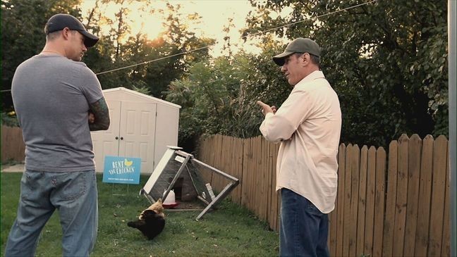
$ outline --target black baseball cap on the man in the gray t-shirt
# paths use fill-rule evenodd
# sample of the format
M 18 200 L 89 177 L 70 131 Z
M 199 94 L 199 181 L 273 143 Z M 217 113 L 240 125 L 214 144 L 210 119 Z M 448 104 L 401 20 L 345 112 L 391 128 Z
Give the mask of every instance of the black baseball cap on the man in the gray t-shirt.
M 44 32 L 48 35 L 49 33 L 63 30 L 66 27 L 70 30 L 77 30 L 80 32 L 85 37 L 84 44 L 86 47 L 94 46 L 99 41 L 97 36 L 87 32 L 80 20 L 75 18 L 73 15 L 65 13 L 59 13 L 49 18 L 46 26 L 44 26 Z

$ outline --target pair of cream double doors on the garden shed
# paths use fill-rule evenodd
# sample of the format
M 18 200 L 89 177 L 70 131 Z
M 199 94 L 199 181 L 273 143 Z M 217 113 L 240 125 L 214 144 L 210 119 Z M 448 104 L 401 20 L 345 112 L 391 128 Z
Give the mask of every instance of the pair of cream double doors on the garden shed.
M 152 173 L 157 104 L 106 102 L 111 120 L 109 129 L 92 132 L 97 172 L 104 170 L 104 156 L 126 156 L 141 158 L 142 173 Z

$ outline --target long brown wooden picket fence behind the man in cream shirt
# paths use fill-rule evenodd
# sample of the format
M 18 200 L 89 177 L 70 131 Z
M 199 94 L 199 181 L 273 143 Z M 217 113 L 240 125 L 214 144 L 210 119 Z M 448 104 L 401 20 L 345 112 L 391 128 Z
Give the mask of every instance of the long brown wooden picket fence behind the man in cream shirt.
M 198 158 L 240 180 L 231 199 L 273 230 L 279 228 L 275 192 L 279 144 L 262 137 L 214 135 Z M 388 157 L 388 158 L 387 158 Z M 329 214 L 331 256 L 449 256 L 448 140 L 403 134 L 379 147 L 341 144 L 336 208 Z M 224 183 L 214 177 L 212 187 Z

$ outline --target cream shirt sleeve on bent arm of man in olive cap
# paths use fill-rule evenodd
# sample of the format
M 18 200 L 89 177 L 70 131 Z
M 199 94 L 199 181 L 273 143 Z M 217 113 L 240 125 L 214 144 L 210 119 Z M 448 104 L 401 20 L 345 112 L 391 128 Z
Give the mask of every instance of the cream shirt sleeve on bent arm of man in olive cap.
M 298 126 L 310 115 L 311 99 L 303 90 L 293 90 L 276 111 L 267 113 L 260 132 L 270 142 L 281 142 L 292 137 Z

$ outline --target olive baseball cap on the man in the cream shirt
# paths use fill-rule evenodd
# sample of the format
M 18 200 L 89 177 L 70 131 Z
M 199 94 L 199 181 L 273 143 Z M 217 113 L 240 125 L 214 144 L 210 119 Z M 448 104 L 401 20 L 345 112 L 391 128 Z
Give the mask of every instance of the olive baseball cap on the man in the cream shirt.
M 290 42 L 283 53 L 273 57 L 274 63 L 279 66 L 284 65 L 284 58 L 294 53 L 308 53 L 320 57 L 319 45 L 309 38 L 298 37 Z

